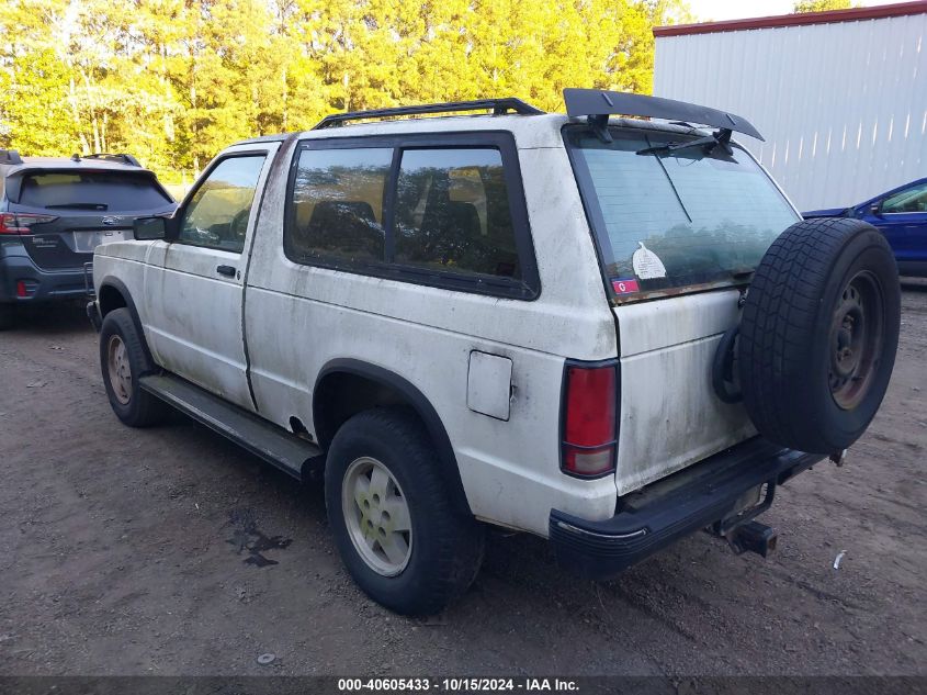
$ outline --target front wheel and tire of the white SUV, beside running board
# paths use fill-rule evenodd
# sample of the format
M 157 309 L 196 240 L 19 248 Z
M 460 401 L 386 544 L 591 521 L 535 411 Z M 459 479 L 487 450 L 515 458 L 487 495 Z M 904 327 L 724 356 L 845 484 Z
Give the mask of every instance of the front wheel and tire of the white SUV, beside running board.
M 127 309 L 113 310 L 103 318 L 100 366 L 110 405 L 124 424 L 149 427 L 163 419 L 168 406 L 138 384 L 139 377 L 156 368 L 145 354 Z

